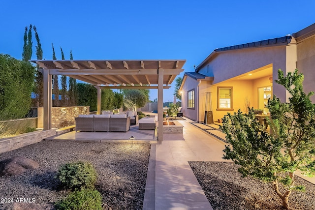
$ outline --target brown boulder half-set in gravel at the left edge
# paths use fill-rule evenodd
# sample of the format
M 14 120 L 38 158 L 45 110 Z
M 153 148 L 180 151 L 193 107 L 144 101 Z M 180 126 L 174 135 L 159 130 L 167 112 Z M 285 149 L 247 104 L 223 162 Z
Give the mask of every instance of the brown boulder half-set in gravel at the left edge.
M 13 176 L 22 174 L 27 169 L 38 168 L 38 163 L 26 157 L 12 157 L 0 162 L 0 175 Z

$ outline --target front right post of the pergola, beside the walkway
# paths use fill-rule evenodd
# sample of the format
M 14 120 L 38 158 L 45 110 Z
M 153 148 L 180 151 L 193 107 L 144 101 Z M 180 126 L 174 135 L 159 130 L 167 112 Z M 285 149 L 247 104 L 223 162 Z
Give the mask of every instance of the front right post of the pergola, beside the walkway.
M 158 140 L 163 140 L 163 76 L 164 69 L 158 69 Z

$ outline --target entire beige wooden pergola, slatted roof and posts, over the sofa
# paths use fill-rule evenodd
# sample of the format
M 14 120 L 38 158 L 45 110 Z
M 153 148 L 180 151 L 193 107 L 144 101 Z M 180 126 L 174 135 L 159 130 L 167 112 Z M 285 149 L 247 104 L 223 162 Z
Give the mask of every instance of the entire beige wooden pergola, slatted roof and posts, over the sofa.
M 52 75 L 66 75 L 97 89 L 158 89 L 158 140 L 163 140 L 163 89 L 169 89 L 186 60 L 31 60 L 44 79 L 44 130 L 51 129 Z

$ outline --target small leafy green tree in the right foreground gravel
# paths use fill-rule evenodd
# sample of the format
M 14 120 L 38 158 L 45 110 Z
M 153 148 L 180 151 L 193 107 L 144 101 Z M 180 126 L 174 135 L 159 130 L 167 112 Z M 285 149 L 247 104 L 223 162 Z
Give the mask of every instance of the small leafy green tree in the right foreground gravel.
M 231 145 L 225 146 L 223 158 L 241 165 L 239 172 L 243 177 L 251 175 L 271 182 L 288 210 L 292 190 L 304 190 L 304 186 L 295 185 L 295 172 L 315 174 L 315 104 L 310 99 L 314 92 L 304 93 L 304 76 L 297 70 L 286 77 L 279 70 L 278 75 L 279 80 L 275 82 L 283 85 L 291 97 L 289 103 L 282 103 L 275 95 L 269 99 L 271 120 L 268 122 L 272 134 L 257 122 L 253 109 L 245 115 L 240 110 L 234 115 L 228 114 L 221 128 Z M 283 191 L 279 189 L 280 183 Z

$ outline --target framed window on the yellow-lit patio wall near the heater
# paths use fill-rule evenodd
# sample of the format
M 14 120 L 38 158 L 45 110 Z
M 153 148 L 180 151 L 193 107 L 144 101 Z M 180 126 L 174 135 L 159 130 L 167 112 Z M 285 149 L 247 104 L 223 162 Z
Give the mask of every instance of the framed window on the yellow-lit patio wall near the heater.
M 218 110 L 233 110 L 233 87 L 218 87 Z

